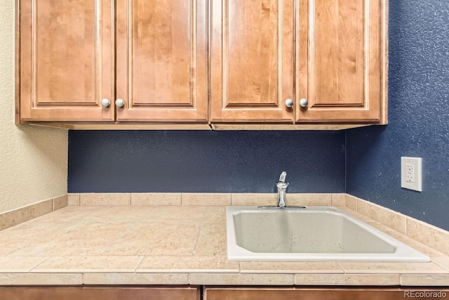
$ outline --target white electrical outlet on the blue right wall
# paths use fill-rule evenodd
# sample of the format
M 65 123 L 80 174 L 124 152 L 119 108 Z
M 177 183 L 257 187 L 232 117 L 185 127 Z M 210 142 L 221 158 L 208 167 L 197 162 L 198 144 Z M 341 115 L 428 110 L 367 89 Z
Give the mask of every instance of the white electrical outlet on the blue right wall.
M 421 157 L 401 157 L 401 187 L 422 191 Z

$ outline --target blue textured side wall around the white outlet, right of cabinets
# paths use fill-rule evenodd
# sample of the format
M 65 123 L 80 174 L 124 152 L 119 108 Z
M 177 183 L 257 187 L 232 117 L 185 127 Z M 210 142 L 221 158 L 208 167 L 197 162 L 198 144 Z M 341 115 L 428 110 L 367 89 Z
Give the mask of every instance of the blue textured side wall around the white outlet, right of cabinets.
M 389 124 L 347 131 L 347 193 L 449 230 L 449 1 L 389 1 Z M 401 188 L 422 157 L 422 193 Z

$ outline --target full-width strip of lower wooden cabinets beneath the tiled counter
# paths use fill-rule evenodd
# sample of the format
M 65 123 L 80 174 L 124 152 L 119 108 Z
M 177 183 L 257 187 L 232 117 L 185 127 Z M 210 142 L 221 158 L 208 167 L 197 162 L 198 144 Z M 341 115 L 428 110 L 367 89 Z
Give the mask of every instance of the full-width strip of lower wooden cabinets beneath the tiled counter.
M 0 287 L 1 300 L 396 300 L 449 299 L 449 287 Z

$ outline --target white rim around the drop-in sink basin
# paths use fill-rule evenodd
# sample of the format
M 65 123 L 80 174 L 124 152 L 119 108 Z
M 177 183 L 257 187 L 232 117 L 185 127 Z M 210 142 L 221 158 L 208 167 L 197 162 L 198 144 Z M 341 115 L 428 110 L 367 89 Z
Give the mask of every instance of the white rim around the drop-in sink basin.
M 226 227 L 227 227 L 227 258 L 229 261 L 400 261 L 400 262 L 429 262 L 429 256 L 418 252 L 412 247 L 396 240 L 394 237 L 383 233 L 381 230 L 370 226 L 368 223 L 357 219 L 337 207 L 307 206 L 306 209 L 289 210 L 288 213 L 308 213 L 320 211 L 323 213 L 339 214 L 349 219 L 369 233 L 379 237 L 384 242 L 396 248 L 394 253 L 264 253 L 251 252 L 237 244 L 234 215 L 241 212 L 257 213 L 256 211 L 273 211 L 275 214 L 279 210 L 259 209 L 254 206 L 228 206 L 226 207 Z

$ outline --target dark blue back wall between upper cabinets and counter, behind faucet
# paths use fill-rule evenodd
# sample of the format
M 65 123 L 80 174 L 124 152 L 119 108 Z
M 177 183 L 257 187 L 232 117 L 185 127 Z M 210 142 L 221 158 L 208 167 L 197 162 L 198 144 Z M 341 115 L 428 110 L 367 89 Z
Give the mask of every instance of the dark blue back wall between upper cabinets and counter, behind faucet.
M 344 192 L 344 131 L 69 131 L 69 193 Z

